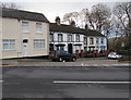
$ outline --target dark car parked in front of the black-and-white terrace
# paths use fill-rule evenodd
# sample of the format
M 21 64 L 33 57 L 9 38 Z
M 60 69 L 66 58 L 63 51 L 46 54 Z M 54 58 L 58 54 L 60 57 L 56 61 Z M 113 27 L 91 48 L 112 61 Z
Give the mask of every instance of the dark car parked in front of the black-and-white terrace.
M 75 62 L 76 57 L 74 54 L 69 53 L 68 51 L 64 50 L 55 50 L 50 54 L 50 59 L 52 61 L 73 61 Z

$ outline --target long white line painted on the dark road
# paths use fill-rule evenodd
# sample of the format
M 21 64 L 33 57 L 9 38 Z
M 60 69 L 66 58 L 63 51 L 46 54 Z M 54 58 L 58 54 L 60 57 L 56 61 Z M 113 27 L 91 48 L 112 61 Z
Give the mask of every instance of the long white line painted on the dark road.
M 79 80 L 53 80 L 55 84 L 131 84 L 131 82 L 79 82 Z

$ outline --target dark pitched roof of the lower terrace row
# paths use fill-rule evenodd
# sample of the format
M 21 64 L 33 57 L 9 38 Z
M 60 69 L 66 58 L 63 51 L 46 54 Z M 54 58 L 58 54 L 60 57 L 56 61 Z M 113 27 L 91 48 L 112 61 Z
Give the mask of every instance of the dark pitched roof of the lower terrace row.
M 74 27 L 72 25 L 66 25 L 66 24 L 60 24 L 57 25 L 56 23 L 50 23 L 49 27 L 50 32 L 58 32 L 58 33 L 71 33 L 71 34 L 82 34 L 86 36 L 99 36 L 99 37 L 105 37 L 100 33 L 96 30 L 86 30 L 83 28 Z

